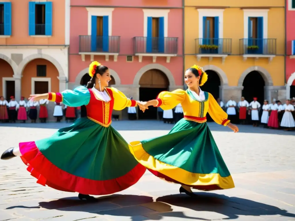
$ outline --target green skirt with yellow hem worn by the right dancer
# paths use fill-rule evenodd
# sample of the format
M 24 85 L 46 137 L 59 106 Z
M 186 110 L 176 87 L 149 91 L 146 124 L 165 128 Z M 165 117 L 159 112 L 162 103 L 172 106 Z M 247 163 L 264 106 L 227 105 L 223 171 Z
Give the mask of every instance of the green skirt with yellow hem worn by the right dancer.
M 167 135 L 131 142 L 129 149 L 168 182 L 205 191 L 235 187 L 207 123 L 181 119 Z

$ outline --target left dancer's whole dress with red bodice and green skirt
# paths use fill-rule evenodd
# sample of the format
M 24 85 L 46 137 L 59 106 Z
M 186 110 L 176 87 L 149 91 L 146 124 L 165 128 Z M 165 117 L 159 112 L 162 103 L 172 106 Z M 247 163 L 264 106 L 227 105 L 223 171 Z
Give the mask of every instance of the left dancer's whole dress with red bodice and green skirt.
M 112 110 L 135 106 L 115 88 L 105 88 L 109 101 L 80 86 L 50 93 L 49 100 L 71 107 L 86 105 L 87 117 L 61 128 L 49 138 L 20 143 L 21 158 L 37 183 L 81 194 L 106 195 L 135 184 L 146 168 L 129 151 L 128 143 L 110 125 Z

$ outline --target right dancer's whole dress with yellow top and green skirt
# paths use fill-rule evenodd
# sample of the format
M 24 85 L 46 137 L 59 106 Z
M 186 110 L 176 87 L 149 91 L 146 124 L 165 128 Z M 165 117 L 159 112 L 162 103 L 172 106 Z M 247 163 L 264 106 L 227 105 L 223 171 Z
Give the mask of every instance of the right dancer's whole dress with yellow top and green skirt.
M 200 90 L 163 91 L 158 95 L 163 110 L 181 103 L 184 118 L 158 138 L 134 141 L 129 149 L 137 161 L 155 176 L 200 190 L 234 188 L 234 182 L 206 123 L 206 114 L 226 126 L 230 121 L 212 94 Z

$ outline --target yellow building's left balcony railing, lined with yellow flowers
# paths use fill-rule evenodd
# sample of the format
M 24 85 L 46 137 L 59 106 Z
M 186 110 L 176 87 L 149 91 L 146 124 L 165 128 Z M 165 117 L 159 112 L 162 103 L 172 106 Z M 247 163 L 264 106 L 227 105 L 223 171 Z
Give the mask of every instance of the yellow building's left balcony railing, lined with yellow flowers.
M 197 38 L 196 54 L 230 55 L 232 53 L 231 38 Z

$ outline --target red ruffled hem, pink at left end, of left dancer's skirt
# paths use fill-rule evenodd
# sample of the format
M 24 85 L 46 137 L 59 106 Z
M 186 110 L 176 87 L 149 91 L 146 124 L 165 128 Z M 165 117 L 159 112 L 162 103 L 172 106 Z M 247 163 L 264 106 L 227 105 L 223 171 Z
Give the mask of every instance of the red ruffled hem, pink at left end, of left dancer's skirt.
M 91 180 L 77 177 L 52 164 L 38 149 L 34 141 L 19 143 L 21 159 L 27 170 L 37 178 L 37 183 L 53 189 L 78 192 L 81 194 L 107 195 L 122 191 L 135 184 L 145 173 L 146 168 L 137 164 L 122 177 L 110 180 Z

